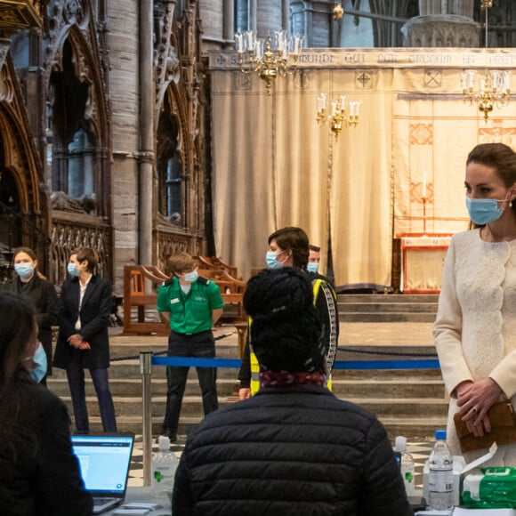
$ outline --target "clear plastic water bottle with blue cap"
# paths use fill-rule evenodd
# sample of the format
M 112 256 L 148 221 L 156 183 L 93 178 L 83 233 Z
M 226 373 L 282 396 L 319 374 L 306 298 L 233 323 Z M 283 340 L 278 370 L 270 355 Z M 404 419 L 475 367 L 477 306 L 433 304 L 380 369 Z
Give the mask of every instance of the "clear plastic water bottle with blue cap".
M 447 447 L 446 430 L 435 432 L 435 444 L 428 458 L 428 506 L 434 511 L 453 508 L 453 456 Z

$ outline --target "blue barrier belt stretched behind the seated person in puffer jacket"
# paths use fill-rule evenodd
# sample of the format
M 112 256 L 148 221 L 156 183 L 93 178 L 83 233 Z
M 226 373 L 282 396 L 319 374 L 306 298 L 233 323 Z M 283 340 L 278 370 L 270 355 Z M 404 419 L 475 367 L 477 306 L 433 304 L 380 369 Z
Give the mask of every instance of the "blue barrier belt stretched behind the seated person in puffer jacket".
M 153 366 L 225 367 L 238 369 L 240 359 L 193 359 L 188 357 L 153 356 Z M 336 360 L 334 369 L 439 369 L 439 360 Z

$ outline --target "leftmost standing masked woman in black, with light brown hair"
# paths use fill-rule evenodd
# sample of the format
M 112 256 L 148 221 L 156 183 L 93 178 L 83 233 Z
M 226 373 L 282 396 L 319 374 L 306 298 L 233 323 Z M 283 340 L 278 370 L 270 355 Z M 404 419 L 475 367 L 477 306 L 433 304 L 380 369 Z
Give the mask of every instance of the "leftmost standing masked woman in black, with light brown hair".
M 45 357 L 44 365 L 32 371 L 31 375 L 46 385 L 46 376 L 52 375 L 52 326 L 57 326 L 59 322 L 59 299 L 55 286 L 37 270 L 37 257 L 32 249 L 18 247 L 12 254 L 12 262 L 16 275 L 3 288 L 25 297 L 36 309 L 37 338 L 43 346 Z M 38 363 L 40 361 L 38 359 Z

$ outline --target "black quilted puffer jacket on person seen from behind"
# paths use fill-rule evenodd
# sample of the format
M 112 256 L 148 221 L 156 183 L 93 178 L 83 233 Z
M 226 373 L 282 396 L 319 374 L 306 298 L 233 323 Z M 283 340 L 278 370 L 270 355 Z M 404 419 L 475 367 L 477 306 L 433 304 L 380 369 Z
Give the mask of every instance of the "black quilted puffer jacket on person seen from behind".
M 315 385 L 262 388 L 207 415 L 174 481 L 181 516 L 412 513 L 382 423 Z

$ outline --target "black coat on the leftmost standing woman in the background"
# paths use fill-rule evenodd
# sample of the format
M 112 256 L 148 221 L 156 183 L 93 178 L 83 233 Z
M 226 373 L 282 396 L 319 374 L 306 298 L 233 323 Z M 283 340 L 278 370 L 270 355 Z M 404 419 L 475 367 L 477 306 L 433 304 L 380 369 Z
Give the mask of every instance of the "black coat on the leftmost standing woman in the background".
M 37 338 L 43 344 L 46 353 L 48 367 L 47 374 L 52 374 L 52 326 L 57 326 L 59 322 L 58 310 L 59 300 L 52 283 L 44 278 L 39 278 L 37 274 L 23 283 L 19 276 L 12 278 L 4 287 L 32 302 L 36 308 L 36 322 L 39 327 Z

